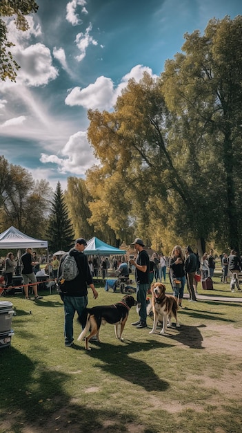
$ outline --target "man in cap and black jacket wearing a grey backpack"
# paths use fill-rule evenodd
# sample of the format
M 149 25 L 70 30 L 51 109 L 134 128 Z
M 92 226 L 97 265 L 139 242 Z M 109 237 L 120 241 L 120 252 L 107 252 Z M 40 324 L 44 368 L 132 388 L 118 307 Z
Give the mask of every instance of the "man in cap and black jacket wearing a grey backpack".
M 73 338 L 73 319 L 74 313 L 77 311 L 79 317 L 84 308 L 88 305 L 88 286 L 92 289 L 93 297 L 96 300 L 98 297 L 97 290 L 94 288 L 88 258 L 83 254 L 83 250 L 87 245 L 87 241 L 82 237 L 74 243 L 74 248 L 69 251 L 70 256 L 77 261 L 79 274 L 71 281 L 60 282 L 61 299 L 64 304 L 65 324 L 64 338 L 65 346 L 72 346 Z M 57 277 L 61 277 L 62 264 L 66 255 L 61 257 Z

